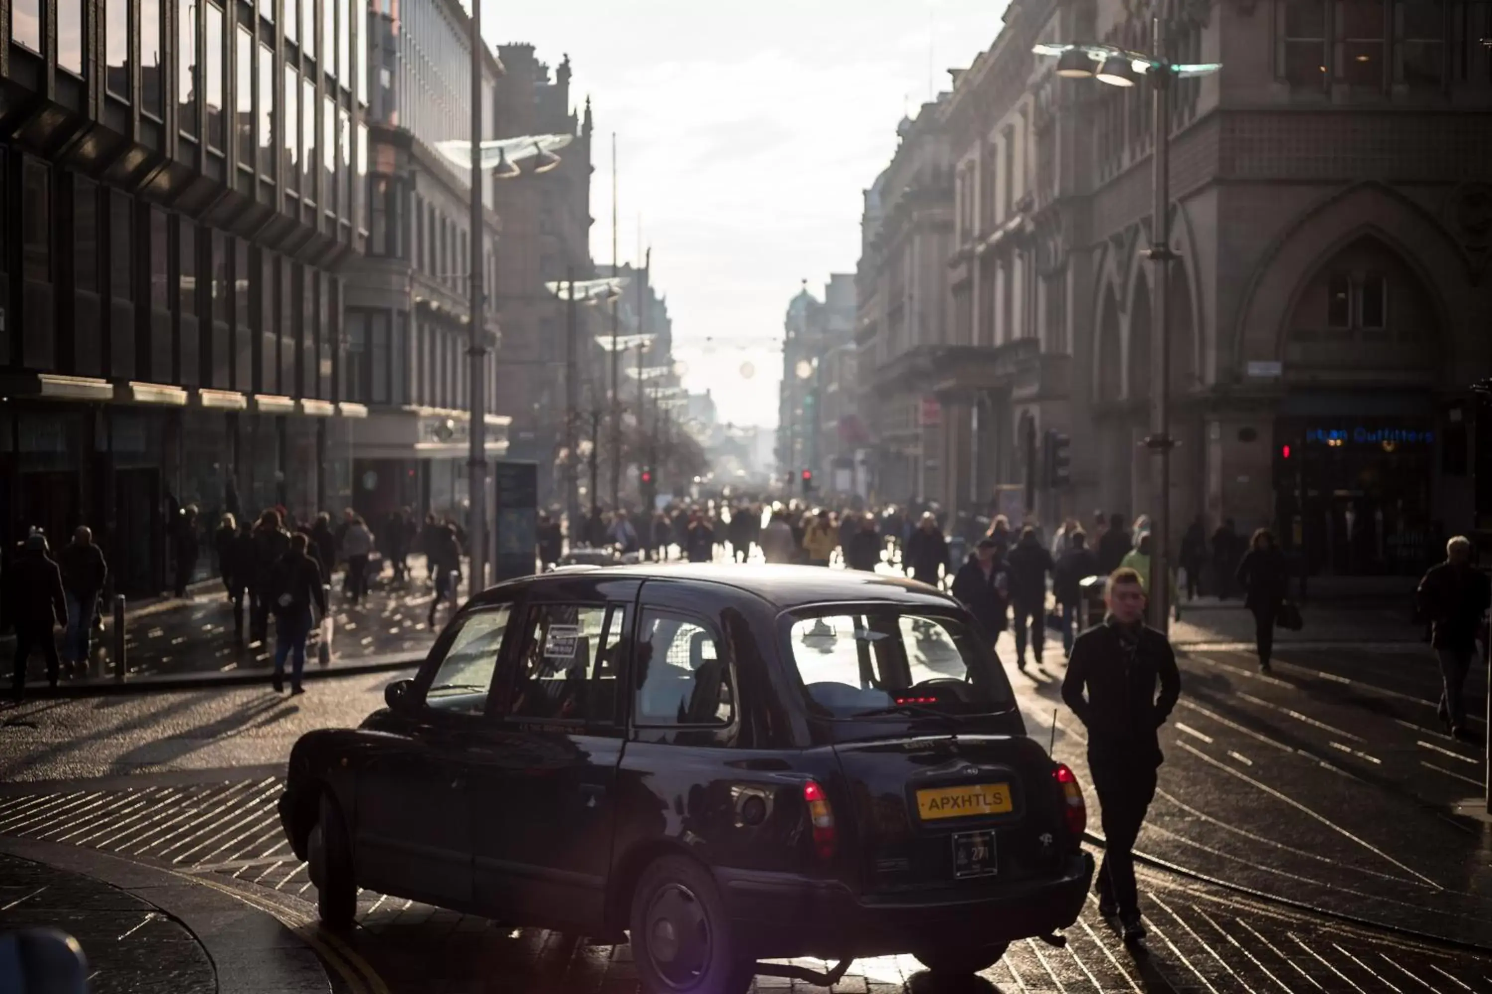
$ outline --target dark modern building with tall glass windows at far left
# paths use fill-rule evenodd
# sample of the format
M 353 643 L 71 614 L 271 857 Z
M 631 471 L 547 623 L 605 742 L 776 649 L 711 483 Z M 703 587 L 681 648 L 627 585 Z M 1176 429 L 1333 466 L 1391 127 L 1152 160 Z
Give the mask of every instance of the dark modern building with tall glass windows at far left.
M 200 577 L 221 514 L 333 507 L 331 425 L 366 413 L 339 273 L 367 240 L 369 7 L 6 9 L 3 547 L 88 525 L 118 590 L 157 593 L 186 505 Z

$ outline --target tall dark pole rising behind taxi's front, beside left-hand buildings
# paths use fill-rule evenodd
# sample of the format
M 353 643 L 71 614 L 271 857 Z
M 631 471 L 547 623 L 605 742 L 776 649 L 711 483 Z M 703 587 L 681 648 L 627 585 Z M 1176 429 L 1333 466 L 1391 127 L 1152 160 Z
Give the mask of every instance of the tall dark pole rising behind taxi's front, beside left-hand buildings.
M 471 580 L 470 590 L 476 593 L 486 587 L 486 297 L 482 291 L 482 264 L 486 229 L 482 206 L 482 0 L 471 0 L 471 219 L 467 258 L 471 264 L 471 343 L 467 356 L 471 367 L 471 440 L 470 498 L 471 498 Z M 497 244 L 492 246 L 494 255 Z

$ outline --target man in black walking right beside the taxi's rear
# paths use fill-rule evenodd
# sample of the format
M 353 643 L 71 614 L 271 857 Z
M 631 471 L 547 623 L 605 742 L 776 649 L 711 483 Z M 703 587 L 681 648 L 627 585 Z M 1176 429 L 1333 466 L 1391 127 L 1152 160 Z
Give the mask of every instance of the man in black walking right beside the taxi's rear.
M 1088 729 L 1088 769 L 1103 815 L 1098 911 L 1118 917 L 1123 940 L 1135 943 L 1144 939 L 1144 925 L 1132 849 L 1165 759 L 1158 732 L 1176 706 L 1182 678 L 1171 644 L 1144 624 L 1144 586 L 1134 569 L 1109 577 L 1106 602 L 1104 623 L 1073 642 L 1062 700 Z

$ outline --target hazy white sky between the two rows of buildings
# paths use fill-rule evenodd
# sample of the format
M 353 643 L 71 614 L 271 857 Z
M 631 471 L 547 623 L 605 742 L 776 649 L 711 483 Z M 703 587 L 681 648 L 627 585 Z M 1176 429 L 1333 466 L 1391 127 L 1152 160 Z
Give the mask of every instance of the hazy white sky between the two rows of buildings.
M 774 425 L 780 353 L 698 340 L 780 337 L 801 280 L 822 295 L 830 273 L 855 270 L 861 194 L 897 122 L 994 42 L 1004 6 L 485 0 L 482 13 L 492 42 L 530 42 L 551 67 L 568 52 L 576 103 L 591 95 L 595 259 L 612 253 L 616 131 L 621 259 L 637 256 L 640 218 L 686 384 L 710 389 L 722 420 Z

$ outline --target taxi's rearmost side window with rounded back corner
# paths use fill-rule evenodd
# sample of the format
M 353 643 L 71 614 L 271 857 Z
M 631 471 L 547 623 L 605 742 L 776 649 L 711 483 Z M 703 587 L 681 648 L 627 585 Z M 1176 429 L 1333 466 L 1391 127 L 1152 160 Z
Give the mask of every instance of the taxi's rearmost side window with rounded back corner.
M 736 687 L 715 632 L 686 617 L 643 611 L 634 665 L 634 723 L 727 726 Z

